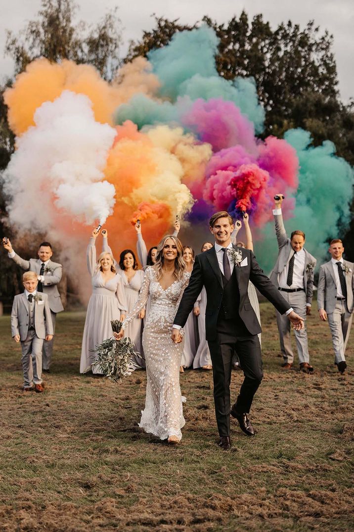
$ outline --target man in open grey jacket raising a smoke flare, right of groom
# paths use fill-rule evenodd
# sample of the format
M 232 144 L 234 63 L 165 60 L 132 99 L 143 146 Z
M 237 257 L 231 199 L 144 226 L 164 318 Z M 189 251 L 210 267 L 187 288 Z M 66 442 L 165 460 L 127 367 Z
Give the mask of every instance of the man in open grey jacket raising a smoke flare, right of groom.
M 305 250 L 305 234 L 302 231 L 293 231 L 291 238 L 286 235 L 282 202 L 284 196 L 278 194 L 273 210 L 275 232 L 278 241 L 278 258 L 269 279 L 273 281 L 278 290 L 285 297 L 289 305 L 304 320 L 305 327 L 294 330 L 297 344 L 300 369 L 311 373 L 314 368 L 310 365 L 309 348 L 307 341 L 306 316 L 311 312 L 312 292 L 314 288 L 314 270 L 316 259 Z M 291 347 L 290 321 L 286 316 L 277 312 L 279 339 L 284 362 L 282 368 L 292 368 L 294 354 Z

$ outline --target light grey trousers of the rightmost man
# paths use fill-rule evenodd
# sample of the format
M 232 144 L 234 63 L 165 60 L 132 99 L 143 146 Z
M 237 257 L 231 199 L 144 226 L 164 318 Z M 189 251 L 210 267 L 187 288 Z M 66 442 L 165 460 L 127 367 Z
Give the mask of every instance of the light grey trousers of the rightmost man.
M 334 349 L 334 362 L 345 361 L 345 348 L 347 347 L 351 320 L 353 315 L 348 310 L 347 301 L 337 301 L 334 312 L 327 314 L 332 334 Z

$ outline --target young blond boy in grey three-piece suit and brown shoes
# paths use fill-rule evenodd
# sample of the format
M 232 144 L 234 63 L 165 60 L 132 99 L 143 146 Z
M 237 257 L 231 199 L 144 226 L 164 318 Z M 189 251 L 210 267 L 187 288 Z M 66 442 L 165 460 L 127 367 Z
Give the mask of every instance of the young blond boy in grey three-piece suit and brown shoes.
M 11 334 L 21 342 L 23 390 L 44 392 L 42 381 L 42 347 L 53 338 L 53 323 L 48 296 L 37 292 L 38 278 L 32 271 L 23 273 L 24 293 L 14 297 Z

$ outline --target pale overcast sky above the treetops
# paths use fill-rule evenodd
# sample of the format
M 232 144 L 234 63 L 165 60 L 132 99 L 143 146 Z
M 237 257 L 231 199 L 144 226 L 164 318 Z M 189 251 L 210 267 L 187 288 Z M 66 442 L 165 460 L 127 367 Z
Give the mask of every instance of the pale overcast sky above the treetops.
M 262 13 L 264 19 L 275 27 L 279 22 L 291 20 L 301 28 L 314 19 L 323 30 L 334 36 L 333 51 L 337 63 L 339 88 L 343 101 L 347 103 L 354 96 L 354 2 L 352 0 L 76 0 L 79 5 L 77 19 L 89 23 L 97 22 L 104 13 L 119 6 L 119 17 L 124 28 L 125 56 L 130 39 L 138 39 L 143 30 L 154 26 L 153 14 L 168 19 L 179 18 L 182 23 L 194 23 L 203 15 L 209 15 L 217 22 L 227 22 L 234 14 L 245 9 L 250 16 Z M 40 0 L 0 0 L 0 72 L 11 76 L 12 60 L 3 57 L 5 29 L 18 32 L 28 20 L 35 18 Z

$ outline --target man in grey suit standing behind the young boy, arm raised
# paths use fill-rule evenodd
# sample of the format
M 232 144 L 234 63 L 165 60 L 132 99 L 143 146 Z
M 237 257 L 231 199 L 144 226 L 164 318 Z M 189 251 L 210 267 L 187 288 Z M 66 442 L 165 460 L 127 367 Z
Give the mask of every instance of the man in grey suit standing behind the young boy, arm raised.
M 8 238 L 3 238 L 3 246 L 5 250 L 9 252 L 10 259 L 18 264 L 23 270 L 34 271 L 37 273 L 37 292 L 44 292 L 48 296 L 54 334 L 56 314 L 57 312 L 64 310 L 60 299 L 60 294 L 56 286 L 61 280 L 63 268 L 61 264 L 51 260 L 53 255 L 51 244 L 49 242 L 42 242 L 38 250 L 39 258 L 30 259 L 29 261 L 22 259 L 13 251 L 11 242 Z M 43 343 L 43 371 L 46 373 L 50 373 L 53 342 L 54 339 L 52 338 L 51 340 L 44 340 Z

